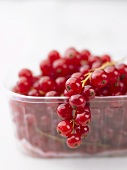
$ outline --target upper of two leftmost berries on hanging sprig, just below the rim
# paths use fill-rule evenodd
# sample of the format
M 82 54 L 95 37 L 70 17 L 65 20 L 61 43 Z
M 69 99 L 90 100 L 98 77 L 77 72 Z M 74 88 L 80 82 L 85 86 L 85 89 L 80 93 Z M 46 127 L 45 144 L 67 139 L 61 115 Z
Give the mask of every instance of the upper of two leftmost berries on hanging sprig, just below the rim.
M 57 108 L 57 114 L 60 118 L 71 119 L 72 118 L 72 108 L 67 104 L 61 104 Z

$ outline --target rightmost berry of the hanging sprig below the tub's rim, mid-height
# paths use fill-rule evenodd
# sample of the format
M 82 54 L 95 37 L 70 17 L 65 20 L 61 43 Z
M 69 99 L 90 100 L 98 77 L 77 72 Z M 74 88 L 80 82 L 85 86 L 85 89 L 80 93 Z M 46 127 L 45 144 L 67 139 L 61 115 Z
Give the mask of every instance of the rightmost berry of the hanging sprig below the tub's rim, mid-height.
M 84 111 L 83 113 L 77 114 L 75 122 L 80 126 L 86 126 L 91 120 L 91 113 Z

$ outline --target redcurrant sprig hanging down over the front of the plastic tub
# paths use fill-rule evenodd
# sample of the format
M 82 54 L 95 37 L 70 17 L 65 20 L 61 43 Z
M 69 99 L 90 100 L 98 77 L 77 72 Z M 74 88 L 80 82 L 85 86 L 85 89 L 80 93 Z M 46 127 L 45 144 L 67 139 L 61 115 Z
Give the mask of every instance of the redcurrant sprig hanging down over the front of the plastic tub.
M 91 113 L 87 102 L 95 97 L 95 92 L 90 85 L 82 87 L 82 80 L 81 73 L 72 74 L 65 84 L 69 103 L 57 108 L 58 116 L 64 119 L 59 122 L 57 132 L 67 137 L 66 143 L 70 148 L 77 148 L 81 144 L 81 138 L 89 133 Z

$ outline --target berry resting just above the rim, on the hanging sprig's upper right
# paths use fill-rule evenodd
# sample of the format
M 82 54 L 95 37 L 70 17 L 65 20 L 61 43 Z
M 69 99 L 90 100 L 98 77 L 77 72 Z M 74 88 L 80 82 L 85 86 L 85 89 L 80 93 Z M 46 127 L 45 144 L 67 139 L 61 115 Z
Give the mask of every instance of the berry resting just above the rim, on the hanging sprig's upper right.
M 84 86 L 82 95 L 85 97 L 86 101 L 92 100 L 95 97 L 95 91 L 92 86 Z

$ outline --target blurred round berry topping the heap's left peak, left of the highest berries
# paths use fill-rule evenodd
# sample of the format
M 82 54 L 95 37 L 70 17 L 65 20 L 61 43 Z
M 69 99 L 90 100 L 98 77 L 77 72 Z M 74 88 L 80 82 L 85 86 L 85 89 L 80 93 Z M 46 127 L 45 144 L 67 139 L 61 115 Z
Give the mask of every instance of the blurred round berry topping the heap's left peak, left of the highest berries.
M 52 50 L 48 54 L 48 60 L 53 63 L 55 60 L 60 59 L 60 54 L 56 50 Z

